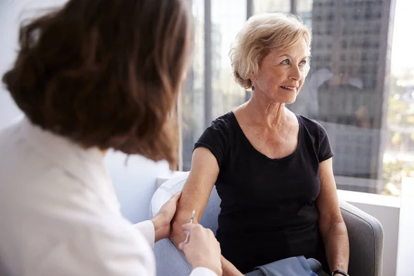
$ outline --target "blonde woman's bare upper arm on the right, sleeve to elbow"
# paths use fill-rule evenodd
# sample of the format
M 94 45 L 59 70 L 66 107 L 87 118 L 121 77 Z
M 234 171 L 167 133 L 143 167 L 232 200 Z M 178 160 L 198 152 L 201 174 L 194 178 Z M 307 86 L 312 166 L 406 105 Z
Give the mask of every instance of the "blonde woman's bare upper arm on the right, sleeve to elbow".
M 319 228 L 323 231 L 331 223 L 343 221 L 333 177 L 332 158 L 319 164 L 319 179 L 321 188 L 316 204 L 319 210 Z

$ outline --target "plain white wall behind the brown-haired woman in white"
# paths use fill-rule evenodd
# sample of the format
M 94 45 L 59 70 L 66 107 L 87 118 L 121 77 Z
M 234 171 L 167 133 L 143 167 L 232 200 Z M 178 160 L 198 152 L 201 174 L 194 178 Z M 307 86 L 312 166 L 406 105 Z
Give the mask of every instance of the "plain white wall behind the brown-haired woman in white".
M 32 10 L 59 6 L 64 0 L 0 0 L 0 75 L 12 66 L 17 50 L 19 22 Z M 0 86 L 0 128 L 21 115 L 3 85 Z M 122 213 L 132 222 L 148 219 L 149 202 L 155 192 L 158 175 L 168 172 L 165 161 L 152 162 L 144 157 L 132 156 L 125 166 L 126 155 L 108 152 L 106 165 L 121 202 Z

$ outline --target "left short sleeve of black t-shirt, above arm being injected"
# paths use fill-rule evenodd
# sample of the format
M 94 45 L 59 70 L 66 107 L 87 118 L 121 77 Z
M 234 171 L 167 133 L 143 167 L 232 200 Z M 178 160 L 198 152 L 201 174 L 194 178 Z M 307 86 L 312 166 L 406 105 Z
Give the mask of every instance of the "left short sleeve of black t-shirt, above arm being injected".
M 211 126 L 204 130 L 197 143 L 195 143 L 194 149 L 201 147 L 208 148 L 217 159 L 219 168 L 221 168 L 226 158 L 230 141 L 229 137 L 228 122 L 223 117 L 219 117 L 211 123 Z

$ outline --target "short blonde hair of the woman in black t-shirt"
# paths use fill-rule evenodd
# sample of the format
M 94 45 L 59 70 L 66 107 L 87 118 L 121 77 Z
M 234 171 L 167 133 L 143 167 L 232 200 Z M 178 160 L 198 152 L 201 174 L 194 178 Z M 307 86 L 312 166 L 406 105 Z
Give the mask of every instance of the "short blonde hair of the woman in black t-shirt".
M 271 50 L 290 48 L 302 38 L 310 47 L 311 30 L 293 14 L 262 13 L 250 17 L 230 50 L 237 83 L 243 88 L 251 88 L 250 76 L 259 72 L 262 59 Z

